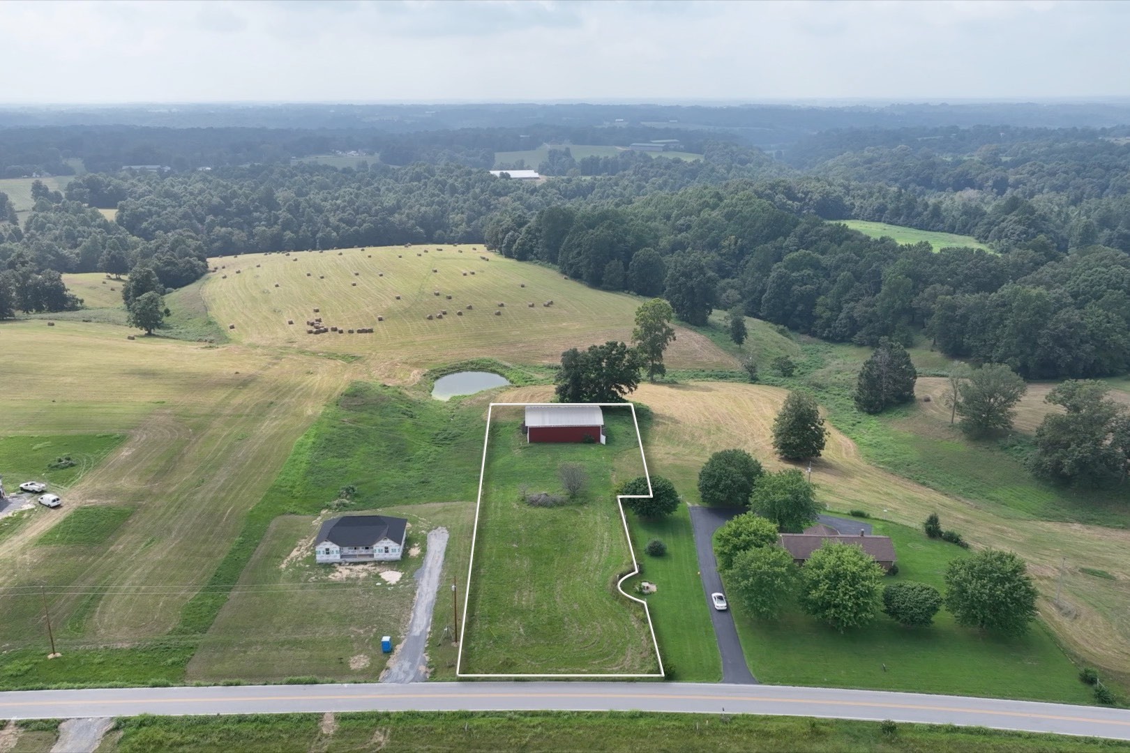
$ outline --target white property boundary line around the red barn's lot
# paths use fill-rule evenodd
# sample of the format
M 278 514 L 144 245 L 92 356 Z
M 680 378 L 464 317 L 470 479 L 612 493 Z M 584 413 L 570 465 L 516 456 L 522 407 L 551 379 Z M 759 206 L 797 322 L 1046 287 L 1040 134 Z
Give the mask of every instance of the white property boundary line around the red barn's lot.
M 647 493 L 646 494 L 617 494 L 616 502 L 620 508 L 620 522 L 624 524 L 624 537 L 628 542 L 628 552 L 632 553 L 632 572 L 628 572 L 619 580 L 616 581 L 616 590 L 620 592 L 624 596 L 631 598 L 633 602 L 643 604 L 644 614 L 647 615 L 647 629 L 651 631 L 651 642 L 655 648 L 655 662 L 659 663 L 659 672 L 651 674 L 476 674 L 476 673 L 464 673 L 462 671 L 463 666 L 463 633 L 467 632 L 467 612 L 471 604 L 471 572 L 475 569 L 475 542 L 479 534 L 479 511 L 483 509 L 483 480 L 486 476 L 487 470 L 487 444 L 490 441 L 490 418 L 494 413 L 495 405 L 499 408 L 541 408 L 541 406 L 560 406 L 563 404 L 567 405 L 589 405 L 597 408 L 628 408 L 632 411 L 632 423 L 635 424 L 636 439 L 640 443 L 640 459 L 643 461 L 643 474 L 647 480 Z M 651 474 L 647 472 L 647 458 L 643 453 L 643 436 L 640 434 L 640 421 L 636 419 L 635 405 L 632 403 L 490 403 L 487 409 L 487 430 L 486 436 L 483 438 L 483 464 L 479 467 L 479 496 L 478 500 L 475 502 L 475 528 L 471 533 L 471 557 L 470 562 L 467 566 L 467 588 L 463 590 L 463 624 L 459 628 L 459 653 L 455 656 L 455 676 L 457 677 L 625 677 L 625 678 L 640 678 L 640 677 L 666 677 L 667 673 L 663 671 L 663 659 L 659 654 L 659 641 L 655 640 L 655 625 L 651 621 L 651 610 L 647 608 L 647 602 L 642 598 L 636 598 L 632 594 L 625 592 L 620 586 L 625 580 L 632 576 L 640 573 L 640 562 L 635 557 L 635 548 L 632 545 L 632 533 L 628 531 L 628 519 L 624 513 L 624 500 L 625 499 L 650 499 L 653 496 L 651 488 Z

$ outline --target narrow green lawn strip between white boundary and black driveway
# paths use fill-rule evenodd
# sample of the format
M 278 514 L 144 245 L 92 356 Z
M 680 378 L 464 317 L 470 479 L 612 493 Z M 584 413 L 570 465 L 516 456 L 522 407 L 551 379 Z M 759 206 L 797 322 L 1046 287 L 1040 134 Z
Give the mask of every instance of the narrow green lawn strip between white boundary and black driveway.
M 659 520 L 629 514 L 628 526 L 640 560 L 641 573 L 635 580 L 649 580 L 659 587 L 645 598 L 668 678 L 718 682 L 722 678 L 722 658 L 698 577 L 698 555 L 687 506 L 680 505 L 675 515 Z M 651 557 L 644 552 L 652 539 L 667 544 L 667 554 Z

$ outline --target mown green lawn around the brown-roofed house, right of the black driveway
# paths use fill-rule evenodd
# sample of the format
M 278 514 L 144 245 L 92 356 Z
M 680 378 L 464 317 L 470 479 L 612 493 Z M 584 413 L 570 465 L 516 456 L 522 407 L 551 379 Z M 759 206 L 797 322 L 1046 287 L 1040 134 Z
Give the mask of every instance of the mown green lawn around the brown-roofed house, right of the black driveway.
M 914 580 L 944 590 L 947 563 L 968 554 L 906 526 L 872 523 L 876 533 L 894 540 L 898 557 L 898 575 L 887 576 L 884 584 Z M 1033 624 L 1024 637 L 1000 638 L 958 627 L 942 610 L 930 628 L 902 628 L 880 613 L 870 625 L 840 633 L 799 608 L 780 620 L 750 618 L 740 603 L 731 608 L 746 660 L 762 682 L 1093 701 L 1078 669 L 1042 623 Z

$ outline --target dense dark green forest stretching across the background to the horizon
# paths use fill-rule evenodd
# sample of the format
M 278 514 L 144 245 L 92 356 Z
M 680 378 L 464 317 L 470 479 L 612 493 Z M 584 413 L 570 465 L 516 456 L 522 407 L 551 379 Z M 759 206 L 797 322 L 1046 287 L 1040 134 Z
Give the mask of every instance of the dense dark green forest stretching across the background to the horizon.
M 623 145 L 676 132 L 702 159 L 562 149 L 538 166 L 554 176 L 544 182 L 485 169 L 531 139 Z M 208 256 L 484 243 L 594 287 L 663 295 L 694 324 L 740 308 L 832 341 L 927 336 L 1029 378 L 1130 369 L 1130 140 L 1118 128 L 928 121 L 826 130 L 772 154 L 733 133 L 640 122 L 6 133 L 6 169 L 81 158 L 92 172 L 63 192 L 36 184 L 20 221 L 0 194 L 0 315 L 76 306 L 60 272 L 141 265 L 176 288 L 202 275 Z M 374 159 L 341 169 L 290 159 L 334 148 Z M 172 169 L 118 170 L 133 161 Z M 899 246 L 841 219 L 971 235 L 992 251 Z

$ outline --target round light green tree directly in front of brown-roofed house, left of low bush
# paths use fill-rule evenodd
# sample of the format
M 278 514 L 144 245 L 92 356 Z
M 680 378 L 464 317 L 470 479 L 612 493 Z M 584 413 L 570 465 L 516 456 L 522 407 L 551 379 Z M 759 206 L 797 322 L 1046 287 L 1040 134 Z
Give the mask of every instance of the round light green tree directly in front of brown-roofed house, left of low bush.
M 800 606 L 840 632 L 875 619 L 883 568 L 858 544 L 831 541 L 800 569 Z

